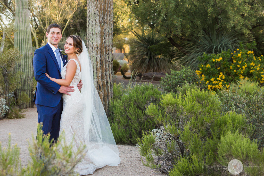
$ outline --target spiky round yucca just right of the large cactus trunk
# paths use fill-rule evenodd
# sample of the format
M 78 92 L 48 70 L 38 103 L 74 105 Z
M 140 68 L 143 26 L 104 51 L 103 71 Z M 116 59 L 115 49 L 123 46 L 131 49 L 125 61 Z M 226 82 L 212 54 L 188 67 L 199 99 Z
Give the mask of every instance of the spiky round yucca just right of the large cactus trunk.
M 131 70 L 140 73 L 164 72 L 172 68 L 171 46 L 164 41 L 163 37 L 148 32 L 146 34 L 134 34 L 137 39 L 131 42 L 130 60 Z

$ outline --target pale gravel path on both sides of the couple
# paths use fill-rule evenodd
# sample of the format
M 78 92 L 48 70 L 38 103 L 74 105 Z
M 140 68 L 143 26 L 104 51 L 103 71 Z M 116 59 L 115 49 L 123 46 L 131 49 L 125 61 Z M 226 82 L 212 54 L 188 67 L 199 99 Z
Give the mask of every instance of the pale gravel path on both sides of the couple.
M 11 133 L 12 144 L 20 148 L 20 158 L 22 165 L 26 165 L 30 160 L 27 149 L 28 142 L 32 142 L 32 134 L 36 136 L 37 129 L 37 109 L 28 108 L 24 112 L 26 118 L 23 119 L 3 119 L 0 120 L 0 141 L 2 147 L 7 146 L 8 134 Z M 152 169 L 145 167 L 141 162 L 141 156 L 135 146 L 117 145 L 121 163 L 119 166 L 106 166 L 98 169 L 93 175 L 160 175 Z

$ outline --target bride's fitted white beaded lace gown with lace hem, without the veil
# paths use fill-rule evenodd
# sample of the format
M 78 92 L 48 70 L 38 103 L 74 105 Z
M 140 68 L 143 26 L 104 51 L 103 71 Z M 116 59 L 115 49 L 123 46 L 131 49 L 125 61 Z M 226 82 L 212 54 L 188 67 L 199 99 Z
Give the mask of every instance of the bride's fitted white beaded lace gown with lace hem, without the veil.
M 60 134 L 64 130 L 65 132 L 65 141 L 67 144 L 70 144 L 72 139 L 73 142 L 73 150 L 77 151 L 77 149 L 81 145 L 85 145 L 84 141 L 84 121 L 83 121 L 83 110 L 84 110 L 84 98 L 79 91 L 77 84 L 81 79 L 81 70 L 77 60 L 71 59 L 76 62 L 77 68 L 76 73 L 70 86 L 74 86 L 75 91 L 69 92 L 71 95 L 63 94 L 63 111 L 60 120 Z M 69 63 L 69 62 L 68 62 Z M 68 64 L 67 63 L 67 64 Z M 61 71 L 62 79 L 65 79 L 66 76 L 66 66 L 63 67 Z M 93 174 L 93 172 L 102 168 L 105 165 L 95 164 L 89 156 L 89 152 L 86 152 L 86 155 L 82 159 L 81 163 L 76 166 L 75 171 L 80 175 Z

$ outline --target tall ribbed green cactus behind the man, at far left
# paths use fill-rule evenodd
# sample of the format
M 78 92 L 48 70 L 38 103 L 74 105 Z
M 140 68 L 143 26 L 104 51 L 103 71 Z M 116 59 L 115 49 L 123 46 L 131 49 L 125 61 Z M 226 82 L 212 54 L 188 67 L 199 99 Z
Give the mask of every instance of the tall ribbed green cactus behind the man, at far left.
M 27 0 L 16 0 L 16 18 L 15 18 L 14 45 L 22 54 L 21 62 L 16 65 L 15 71 L 22 72 L 21 87 L 17 90 L 17 98 L 22 108 L 33 107 L 33 50 L 29 21 L 29 10 Z M 28 96 L 28 97 L 27 97 Z

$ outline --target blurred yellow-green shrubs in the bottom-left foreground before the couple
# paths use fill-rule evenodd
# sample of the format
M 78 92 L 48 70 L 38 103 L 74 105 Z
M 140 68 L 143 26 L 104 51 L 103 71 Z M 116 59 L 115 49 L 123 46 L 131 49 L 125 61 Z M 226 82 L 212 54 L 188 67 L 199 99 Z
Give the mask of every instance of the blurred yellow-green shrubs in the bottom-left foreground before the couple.
M 73 152 L 73 141 L 65 142 L 64 133 L 58 142 L 49 141 L 49 135 L 43 135 L 41 125 L 38 125 L 37 137 L 32 135 L 33 143 L 29 143 L 31 160 L 27 167 L 21 167 L 19 148 L 11 145 L 9 136 L 7 148 L 0 143 L 0 173 L 3 175 L 76 175 L 75 166 L 83 158 L 85 146 Z

